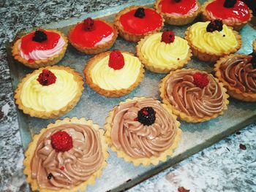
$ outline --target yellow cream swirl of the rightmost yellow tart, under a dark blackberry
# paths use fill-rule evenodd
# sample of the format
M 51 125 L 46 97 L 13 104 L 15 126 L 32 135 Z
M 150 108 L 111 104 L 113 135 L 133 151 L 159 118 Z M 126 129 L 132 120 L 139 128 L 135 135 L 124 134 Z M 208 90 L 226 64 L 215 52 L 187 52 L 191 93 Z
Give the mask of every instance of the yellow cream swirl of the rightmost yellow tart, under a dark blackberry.
M 189 40 L 197 48 L 209 53 L 223 53 L 238 46 L 236 35 L 231 28 L 223 25 L 222 31 L 207 32 L 208 22 L 197 22 L 189 29 Z

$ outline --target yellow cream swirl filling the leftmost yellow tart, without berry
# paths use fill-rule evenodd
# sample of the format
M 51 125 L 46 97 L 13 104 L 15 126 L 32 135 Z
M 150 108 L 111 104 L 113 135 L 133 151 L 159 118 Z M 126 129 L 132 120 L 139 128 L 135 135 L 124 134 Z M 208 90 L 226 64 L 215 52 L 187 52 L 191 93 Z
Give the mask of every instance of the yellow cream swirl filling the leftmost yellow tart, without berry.
M 74 99 L 78 82 L 74 80 L 73 74 L 60 69 L 50 69 L 50 72 L 56 76 L 56 82 L 51 85 L 43 86 L 37 81 L 40 72 L 24 82 L 20 100 L 25 107 L 50 112 L 60 110 Z

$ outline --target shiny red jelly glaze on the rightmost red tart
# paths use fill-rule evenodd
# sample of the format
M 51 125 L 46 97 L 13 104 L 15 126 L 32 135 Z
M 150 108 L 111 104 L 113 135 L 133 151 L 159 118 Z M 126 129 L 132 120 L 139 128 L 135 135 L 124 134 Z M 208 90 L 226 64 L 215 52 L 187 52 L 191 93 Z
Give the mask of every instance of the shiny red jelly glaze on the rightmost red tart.
M 243 1 L 237 1 L 234 7 L 224 7 L 225 0 L 213 1 L 207 5 L 206 9 L 213 13 L 216 18 L 222 20 L 227 18 L 237 18 L 241 21 L 249 20 L 250 14 L 247 5 Z

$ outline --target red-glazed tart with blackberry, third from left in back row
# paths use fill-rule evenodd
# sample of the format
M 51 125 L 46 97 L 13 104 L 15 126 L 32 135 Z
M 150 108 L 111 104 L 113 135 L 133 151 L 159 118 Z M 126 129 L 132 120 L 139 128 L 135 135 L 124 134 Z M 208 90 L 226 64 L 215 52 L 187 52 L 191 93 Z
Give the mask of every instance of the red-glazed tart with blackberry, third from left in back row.
M 129 42 L 138 42 L 147 34 L 160 31 L 164 19 L 155 9 L 131 6 L 116 14 L 115 25 L 121 37 Z

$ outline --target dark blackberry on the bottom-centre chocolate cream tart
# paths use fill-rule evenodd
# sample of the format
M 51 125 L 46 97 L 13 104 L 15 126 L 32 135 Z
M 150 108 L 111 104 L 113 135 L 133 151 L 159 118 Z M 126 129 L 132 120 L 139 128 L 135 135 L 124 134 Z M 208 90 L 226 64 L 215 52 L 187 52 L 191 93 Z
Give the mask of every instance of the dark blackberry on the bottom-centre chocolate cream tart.
M 144 126 L 150 126 L 156 120 L 156 112 L 152 107 L 143 107 L 138 112 L 138 121 Z

